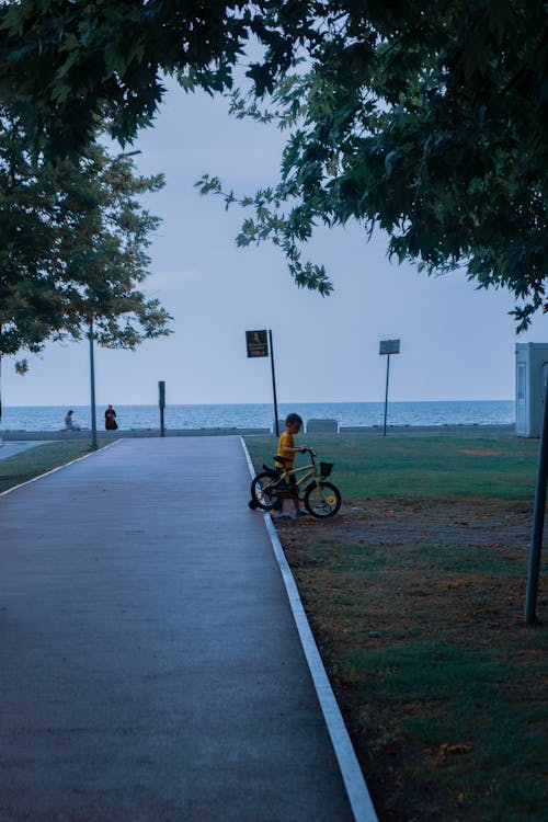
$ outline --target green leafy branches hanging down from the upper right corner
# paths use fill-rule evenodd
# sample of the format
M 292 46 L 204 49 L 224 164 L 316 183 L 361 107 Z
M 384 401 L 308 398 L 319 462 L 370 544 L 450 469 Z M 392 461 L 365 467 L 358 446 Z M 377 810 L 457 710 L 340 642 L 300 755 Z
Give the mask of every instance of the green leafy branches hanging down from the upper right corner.
M 507 287 L 523 330 L 548 310 L 544 4 L 395 5 L 331 2 L 309 70 L 266 110 L 232 95 L 237 116 L 290 130 L 277 185 L 224 194 L 254 210 L 238 242 L 270 238 L 299 285 L 327 293 L 323 266 L 300 263 L 315 226 L 379 226 L 400 262 Z M 222 194 L 216 178 L 198 185 Z

